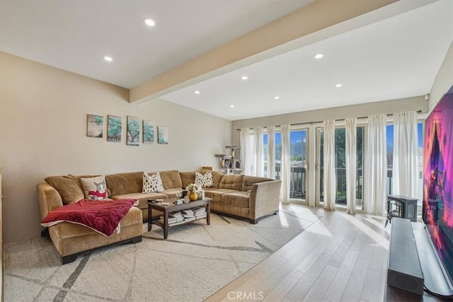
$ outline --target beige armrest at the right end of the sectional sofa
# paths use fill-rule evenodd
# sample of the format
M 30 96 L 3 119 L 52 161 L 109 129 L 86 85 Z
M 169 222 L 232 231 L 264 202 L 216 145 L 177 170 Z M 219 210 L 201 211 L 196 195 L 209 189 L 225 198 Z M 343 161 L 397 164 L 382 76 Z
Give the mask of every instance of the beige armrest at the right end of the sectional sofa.
M 282 180 L 258 182 L 250 190 L 250 219 L 278 211 L 280 206 L 280 187 Z

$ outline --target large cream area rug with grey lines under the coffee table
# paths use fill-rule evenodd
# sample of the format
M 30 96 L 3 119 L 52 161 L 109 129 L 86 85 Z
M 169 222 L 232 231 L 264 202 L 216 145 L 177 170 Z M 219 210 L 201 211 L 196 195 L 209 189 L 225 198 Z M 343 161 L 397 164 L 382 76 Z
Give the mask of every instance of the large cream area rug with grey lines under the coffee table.
M 6 301 L 203 301 L 311 225 L 280 211 L 253 225 L 211 215 L 141 243 L 117 245 L 61 265 L 47 238 L 5 245 Z

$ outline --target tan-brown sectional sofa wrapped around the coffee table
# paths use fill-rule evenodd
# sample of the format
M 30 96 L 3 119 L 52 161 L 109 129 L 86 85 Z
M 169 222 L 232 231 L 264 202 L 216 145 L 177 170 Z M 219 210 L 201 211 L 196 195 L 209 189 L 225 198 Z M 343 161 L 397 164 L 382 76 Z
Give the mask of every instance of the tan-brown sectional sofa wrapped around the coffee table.
M 152 193 L 142 193 L 143 172 L 105 175 L 110 199 L 133 198 L 139 201 L 137 207 L 132 207 L 120 221 L 120 233 L 106 237 L 86 226 L 67 222 L 44 230 L 42 233 L 48 232 L 62 263 L 72 262 L 78 255 L 105 245 L 141 241 L 142 222 L 148 219 L 147 199 L 175 197 L 177 193 L 183 191 L 183 187 L 195 182 L 195 172 L 168 170 L 159 171 L 159 174 L 164 190 Z M 91 176 L 65 175 L 45 178 L 45 182 L 41 182 L 37 187 L 40 219 L 42 220 L 53 209 L 84 199 L 80 178 Z M 215 171 L 212 171 L 212 179 L 212 187 L 204 188 L 205 196 L 212 198 L 212 211 L 246 218 L 251 223 L 278 212 L 280 180 L 247 175 L 224 175 Z M 159 215 L 159 212 L 152 212 L 152 216 Z

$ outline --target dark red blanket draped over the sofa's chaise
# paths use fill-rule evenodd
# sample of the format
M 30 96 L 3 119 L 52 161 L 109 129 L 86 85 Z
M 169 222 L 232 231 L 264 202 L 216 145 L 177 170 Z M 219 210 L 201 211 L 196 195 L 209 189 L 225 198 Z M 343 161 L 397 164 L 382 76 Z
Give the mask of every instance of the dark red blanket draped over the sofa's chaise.
M 105 236 L 110 236 L 136 202 L 137 199 L 105 201 L 81 199 L 79 202 L 51 211 L 42 219 L 41 226 L 55 226 L 60 222 L 78 223 Z

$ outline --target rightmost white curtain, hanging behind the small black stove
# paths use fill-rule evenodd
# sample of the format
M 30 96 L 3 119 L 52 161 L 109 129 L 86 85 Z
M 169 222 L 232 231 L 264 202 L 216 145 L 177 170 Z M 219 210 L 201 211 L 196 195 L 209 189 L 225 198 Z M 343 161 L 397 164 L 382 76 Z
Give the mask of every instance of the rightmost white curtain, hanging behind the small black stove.
M 417 113 L 401 112 L 394 119 L 393 192 L 417 197 Z

